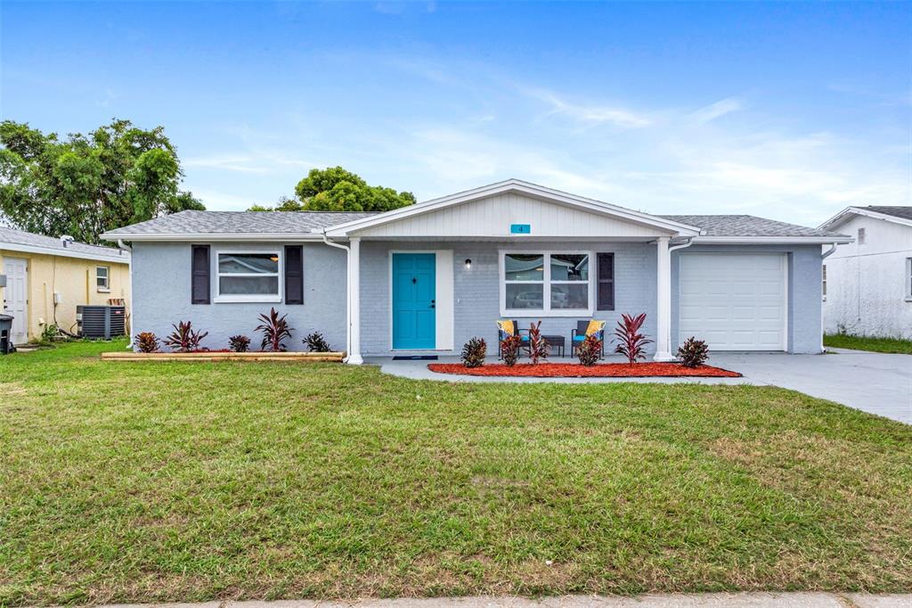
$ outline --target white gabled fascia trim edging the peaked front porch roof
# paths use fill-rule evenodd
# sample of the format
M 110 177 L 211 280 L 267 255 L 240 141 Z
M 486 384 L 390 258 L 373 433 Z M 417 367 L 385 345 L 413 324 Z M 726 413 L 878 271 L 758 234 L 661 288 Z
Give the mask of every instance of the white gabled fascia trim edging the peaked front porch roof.
M 474 190 L 467 190 L 465 192 L 431 199 L 430 201 L 425 201 L 423 203 L 400 207 L 399 209 L 394 209 L 383 214 L 372 215 L 345 224 L 330 226 L 326 228 L 326 235 L 347 236 L 350 232 L 356 230 L 395 222 L 400 219 L 411 217 L 412 215 L 426 214 L 454 204 L 469 203 L 473 200 L 479 200 L 507 192 L 528 194 L 557 204 L 565 204 L 584 209 L 592 213 L 610 215 L 635 224 L 658 227 L 659 229 L 667 230 L 671 233 L 678 233 L 679 236 L 697 236 L 700 234 L 700 228 L 696 226 L 673 222 L 656 215 L 640 213 L 614 204 L 607 204 L 591 198 L 576 196 L 575 194 L 567 194 L 534 183 L 507 180 L 506 182 L 492 183 L 490 185 L 482 186 L 481 188 L 475 188 Z

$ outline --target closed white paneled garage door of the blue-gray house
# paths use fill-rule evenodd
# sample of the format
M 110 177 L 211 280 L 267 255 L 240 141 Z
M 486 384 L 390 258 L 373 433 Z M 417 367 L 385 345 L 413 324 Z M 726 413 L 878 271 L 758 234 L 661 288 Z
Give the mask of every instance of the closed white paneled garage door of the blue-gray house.
M 784 351 L 785 256 L 682 254 L 678 341 L 716 351 Z

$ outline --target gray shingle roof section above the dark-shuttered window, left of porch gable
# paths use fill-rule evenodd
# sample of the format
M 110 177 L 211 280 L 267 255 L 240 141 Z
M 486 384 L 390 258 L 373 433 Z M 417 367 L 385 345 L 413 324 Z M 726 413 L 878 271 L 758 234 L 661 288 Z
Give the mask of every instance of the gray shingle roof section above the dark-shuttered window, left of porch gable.
M 330 211 L 181 211 L 127 225 L 106 236 L 301 234 L 375 215 Z

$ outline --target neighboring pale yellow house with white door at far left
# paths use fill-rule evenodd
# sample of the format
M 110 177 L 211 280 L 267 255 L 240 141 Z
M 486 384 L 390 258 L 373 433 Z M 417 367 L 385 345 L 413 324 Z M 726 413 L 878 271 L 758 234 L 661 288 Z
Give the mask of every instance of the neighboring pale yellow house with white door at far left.
M 0 226 L 0 312 L 15 344 L 47 325 L 76 333 L 76 307 L 120 303 L 130 310 L 130 252 Z

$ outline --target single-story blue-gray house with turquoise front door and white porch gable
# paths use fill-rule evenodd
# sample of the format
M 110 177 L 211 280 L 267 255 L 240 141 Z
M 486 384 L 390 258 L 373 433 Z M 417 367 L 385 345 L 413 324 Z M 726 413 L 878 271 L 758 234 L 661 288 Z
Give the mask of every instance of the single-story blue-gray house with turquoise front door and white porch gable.
M 647 313 L 656 360 L 714 350 L 820 352 L 821 246 L 851 240 L 749 215 L 649 215 L 508 180 L 393 211 L 184 211 L 103 235 L 133 252 L 136 331 L 192 320 L 210 348 L 275 307 L 290 348 L 321 331 L 348 362 L 492 346 L 496 321 Z

